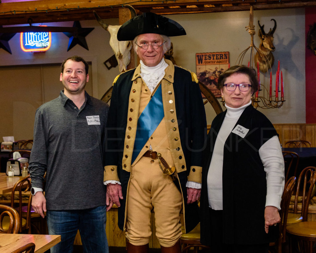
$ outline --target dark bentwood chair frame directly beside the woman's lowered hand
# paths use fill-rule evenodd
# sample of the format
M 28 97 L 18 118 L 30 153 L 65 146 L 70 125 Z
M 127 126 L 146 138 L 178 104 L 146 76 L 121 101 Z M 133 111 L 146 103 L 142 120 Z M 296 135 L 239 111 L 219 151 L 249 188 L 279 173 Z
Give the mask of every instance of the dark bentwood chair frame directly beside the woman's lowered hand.
M 282 194 L 281 201 L 281 223 L 279 226 L 279 238 L 275 243 L 270 243 L 269 248 L 270 252 L 282 253 L 282 244 L 285 243 L 285 233 L 286 233 L 286 222 L 288 218 L 289 205 L 292 193 L 294 191 L 296 177 L 292 176 L 288 181 L 286 181 L 284 186 L 284 191 Z

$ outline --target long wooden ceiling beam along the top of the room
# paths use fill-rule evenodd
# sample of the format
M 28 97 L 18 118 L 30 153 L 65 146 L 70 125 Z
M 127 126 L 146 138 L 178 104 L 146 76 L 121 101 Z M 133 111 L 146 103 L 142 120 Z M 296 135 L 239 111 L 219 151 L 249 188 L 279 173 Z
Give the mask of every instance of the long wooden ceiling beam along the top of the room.
M 254 10 L 316 6 L 316 0 L 41 0 L 0 3 L 0 25 L 27 24 L 28 20 L 32 23 L 92 20 L 93 10 L 103 19 L 118 18 L 119 9 L 128 3 L 138 13 L 154 12 L 161 15 L 249 10 L 250 5 L 253 5 Z

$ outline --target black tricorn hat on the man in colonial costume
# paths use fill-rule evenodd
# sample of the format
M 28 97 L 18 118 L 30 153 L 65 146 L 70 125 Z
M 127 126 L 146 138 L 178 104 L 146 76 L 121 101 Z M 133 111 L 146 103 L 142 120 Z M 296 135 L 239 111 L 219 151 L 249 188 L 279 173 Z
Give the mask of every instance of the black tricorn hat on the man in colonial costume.
M 122 40 L 134 40 L 139 34 L 162 34 L 171 36 L 186 35 L 184 28 L 177 22 L 146 12 L 125 22 L 118 31 L 117 38 Z

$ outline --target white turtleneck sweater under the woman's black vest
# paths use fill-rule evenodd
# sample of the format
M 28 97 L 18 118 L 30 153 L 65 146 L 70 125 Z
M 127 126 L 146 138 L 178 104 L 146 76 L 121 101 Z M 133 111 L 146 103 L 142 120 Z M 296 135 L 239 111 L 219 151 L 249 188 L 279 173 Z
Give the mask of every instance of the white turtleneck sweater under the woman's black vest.
M 251 101 L 240 107 L 231 108 L 227 105 L 227 113 L 215 141 L 214 151 L 207 174 L 207 190 L 209 206 L 213 210 L 223 210 L 223 155 L 224 145 L 230 132 L 242 112 Z M 267 196 L 265 206 L 274 206 L 281 209 L 281 197 L 284 188 L 284 159 L 278 137 L 275 135 L 267 140 L 259 149 L 259 156 L 264 165 L 267 180 Z

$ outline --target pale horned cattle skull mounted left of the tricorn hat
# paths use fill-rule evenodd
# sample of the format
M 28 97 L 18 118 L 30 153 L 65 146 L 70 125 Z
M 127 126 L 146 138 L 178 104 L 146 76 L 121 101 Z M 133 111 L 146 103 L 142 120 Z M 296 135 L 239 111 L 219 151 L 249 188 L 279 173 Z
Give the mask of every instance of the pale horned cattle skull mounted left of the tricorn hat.
M 132 18 L 136 16 L 136 11 L 132 6 L 124 5 L 124 7 L 130 9 Z M 110 24 L 107 24 L 95 11 L 93 11 L 93 14 L 101 27 L 103 27 L 111 35 L 110 46 L 112 47 L 115 58 L 119 63 L 119 71 L 126 71 L 126 67 L 131 60 L 131 41 L 118 41 L 116 36 L 121 26 L 112 26 Z

